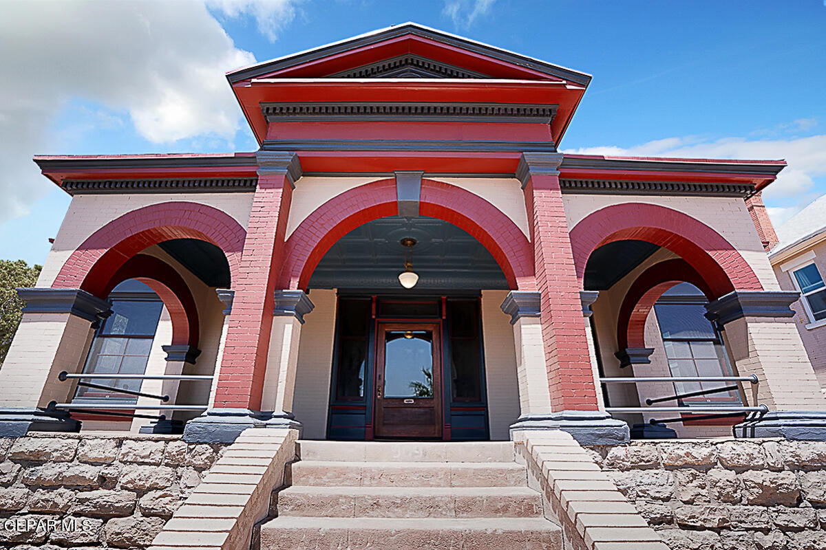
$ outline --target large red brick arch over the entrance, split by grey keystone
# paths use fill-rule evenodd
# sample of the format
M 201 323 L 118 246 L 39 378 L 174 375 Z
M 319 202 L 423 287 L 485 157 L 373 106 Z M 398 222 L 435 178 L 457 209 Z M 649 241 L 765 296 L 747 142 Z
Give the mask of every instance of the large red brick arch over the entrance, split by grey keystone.
M 533 249 L 500 209 L 468 190 L 442 181 L 422 180 L 420 214 L 453 223 L 491 252 L 510 288 L 534 283 Z M 363 223 L 399 214 L 396 181 L 373 181 L 344 191 L 322 204 L 285 244 L 279 277 L 282 288 L 306 289 L 321 257 L 335 242 Z

